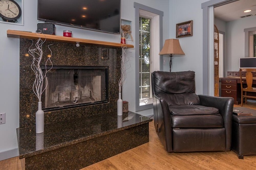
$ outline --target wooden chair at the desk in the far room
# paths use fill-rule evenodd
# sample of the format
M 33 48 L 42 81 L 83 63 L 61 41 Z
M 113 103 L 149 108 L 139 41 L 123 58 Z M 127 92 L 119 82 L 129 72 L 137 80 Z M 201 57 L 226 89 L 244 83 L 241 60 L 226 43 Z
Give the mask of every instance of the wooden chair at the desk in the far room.
M 247 87 L 245 88 L 243 85 L 242 80 L 242 72 L 245 72 L 245 77 L 246 77 L 246 85 Z M 253 75 L 252 72 L 256 72 L 256 68 L 240 68 L 239 73 L 240 73 L 240 82 L 241 82 L 241 106 L 243 106 L 244 98 L 245 98 L 245 104 L 247 104 L 247 98 L 254 98 L 256 99 L 256 96 L 251 96 L 247 95 L 247 92 L 256 92 L 256 88 L 252 87 L 252 81 L 253 81 Z

